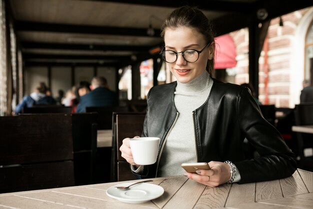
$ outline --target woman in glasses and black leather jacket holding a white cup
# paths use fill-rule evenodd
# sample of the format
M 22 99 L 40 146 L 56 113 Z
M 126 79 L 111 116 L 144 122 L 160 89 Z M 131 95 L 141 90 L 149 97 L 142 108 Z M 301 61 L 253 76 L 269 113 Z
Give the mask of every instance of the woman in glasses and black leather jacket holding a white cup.
M 215 49 L 211 28 L 203 13 L 191 7 L 178 8 L 165 19 L 161 55 L 177 82 L 150 89 L 142 132 L 161 139 L 157 161 L 136 165 L 129 138 L 123 140 L 121 156 L 141 178 L 184 174 L 217 186 L 290 176 L 296 169 L 294 154 L 261 116 L 248 90 L 211 78 Z M 260 157 L 244 160 L 244 138 Z M 183 162 L 208 162 L 211 169 L 187 173 L 180 167 Z

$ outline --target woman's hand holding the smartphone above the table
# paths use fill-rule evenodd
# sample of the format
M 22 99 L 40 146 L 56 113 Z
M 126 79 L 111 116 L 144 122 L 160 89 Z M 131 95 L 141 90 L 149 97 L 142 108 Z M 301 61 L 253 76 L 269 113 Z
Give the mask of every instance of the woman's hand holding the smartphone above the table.
M 209 170 L 197 170 L 197 173 L 185 172 L 188 178 L 195 180 L 207 186 L 215 187 L 220 184 L 226 183 L 230 178 L 229 165 L 223 162 L 210 161 L 208 165 Z

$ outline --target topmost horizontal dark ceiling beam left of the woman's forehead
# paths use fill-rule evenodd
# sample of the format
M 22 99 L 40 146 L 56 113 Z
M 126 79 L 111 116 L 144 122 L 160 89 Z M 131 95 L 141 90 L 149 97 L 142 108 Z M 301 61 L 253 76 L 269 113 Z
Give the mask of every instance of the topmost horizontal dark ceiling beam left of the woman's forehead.
M 52 24 L 16 21 L 15 29 L 17 31 L 27 32 L 50 32 L 50 33 L 70 33 L 70 34 L 97 34 L 97 35 L 115 35 L 115 36 L 139 36 L 150 37 L 144 28 L 126 28 L 126 27 L 103 27 L 69 24 Z M 160 38 L 160 30 L 154 29 L 152 37 Z

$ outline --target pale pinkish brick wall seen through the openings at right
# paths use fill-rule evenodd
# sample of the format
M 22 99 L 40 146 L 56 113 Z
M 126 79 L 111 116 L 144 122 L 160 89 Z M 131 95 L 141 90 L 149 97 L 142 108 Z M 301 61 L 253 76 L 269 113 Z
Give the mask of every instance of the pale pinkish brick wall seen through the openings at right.
M 294 33 L 302 16 L 309 9 L 303 9 L 282 16 L 283 26 L 279 26 L 279 18 L 271 20 L 268 28 L 268 104 L 276 107 L 290 106 L 290 59 Z M 236 45 L 236 76 L 235 83 L 248 82 L 248 29 L 230 33 Z M 259 59 L 259 100 L 264 103 L 265 73 L 263 71 L 264 51 Z

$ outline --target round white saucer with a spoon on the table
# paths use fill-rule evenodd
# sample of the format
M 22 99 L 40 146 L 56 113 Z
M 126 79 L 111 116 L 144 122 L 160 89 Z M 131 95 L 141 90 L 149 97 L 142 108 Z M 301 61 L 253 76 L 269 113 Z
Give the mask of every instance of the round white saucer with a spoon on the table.
M 163 187 L 152 183 L 140 183 L 131 186 L 128 190 L 115 188 L 115 186 L 128 186 L 133 182 L 121 183 L 106 189 L 106 195 L 127 203 L 141 203 L 155 199 L 164 193 Z

